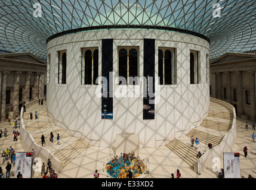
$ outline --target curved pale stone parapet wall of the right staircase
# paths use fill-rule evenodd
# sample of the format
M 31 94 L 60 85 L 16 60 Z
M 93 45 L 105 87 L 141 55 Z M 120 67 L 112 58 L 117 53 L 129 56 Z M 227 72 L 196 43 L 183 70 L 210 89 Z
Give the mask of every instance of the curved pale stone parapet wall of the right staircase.
M 235 148 L 235 145 L 236 145 L 236 111 L 235 111 L 235 107 L 233 107 L 229 103 L 224 102 L 222 100 L 211 98 L 211 101 L 226 107 L 233 113 L 232 127 L 226 133 L 226 135 L 224 136 L 224 138 L 220 144 L 215 146 L 214 149 L 209 149 L 208 151 L 206 151 L 205 154 L 203 154 L 203 156 L 201 156 L 199 161 L 195 162 L 194 171 L 196 173 L 200 173 L 203 170 L 212 168 L 212 166 L 216 162 L 216 160 L 223 159 L 224 152 L 232 152 L 233 148 Z M 215 161 L 215 162 L 213 162 L 213 161 Z M 198 170 L 198 168 L 200 168 L 200 170 Z

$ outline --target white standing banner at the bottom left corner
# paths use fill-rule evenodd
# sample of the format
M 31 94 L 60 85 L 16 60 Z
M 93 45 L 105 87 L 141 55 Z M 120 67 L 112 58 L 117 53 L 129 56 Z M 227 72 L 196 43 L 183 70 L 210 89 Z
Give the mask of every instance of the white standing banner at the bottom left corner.
M 31 178 L 32 175 L 32 153 L 16 153 L 15 177 L 18 172 L 23 178 Z

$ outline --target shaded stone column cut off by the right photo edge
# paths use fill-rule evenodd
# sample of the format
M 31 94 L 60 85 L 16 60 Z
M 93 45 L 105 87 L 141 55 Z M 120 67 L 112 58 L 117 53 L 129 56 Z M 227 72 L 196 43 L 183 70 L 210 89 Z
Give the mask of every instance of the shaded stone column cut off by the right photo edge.
M 250 93 L 251 93 L 251 115 L 250 119 L 255 120 L 255 75 L 254 71 L 248 71 L 250 77 Z

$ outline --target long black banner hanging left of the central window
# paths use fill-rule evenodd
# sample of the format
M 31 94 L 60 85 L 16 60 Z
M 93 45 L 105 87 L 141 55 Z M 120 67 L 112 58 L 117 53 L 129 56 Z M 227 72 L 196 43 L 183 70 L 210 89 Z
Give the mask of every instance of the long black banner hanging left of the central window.
M 113 39 L 102 39 L 101 119 L 113 119 Z

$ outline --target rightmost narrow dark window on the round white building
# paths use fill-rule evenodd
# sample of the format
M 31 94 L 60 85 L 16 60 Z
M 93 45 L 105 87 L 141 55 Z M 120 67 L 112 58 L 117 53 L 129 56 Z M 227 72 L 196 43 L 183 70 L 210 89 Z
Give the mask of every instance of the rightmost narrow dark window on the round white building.
M 190 51 L 190 84 L 199 84 L 199 52 Z

